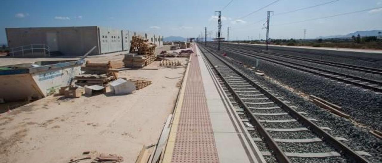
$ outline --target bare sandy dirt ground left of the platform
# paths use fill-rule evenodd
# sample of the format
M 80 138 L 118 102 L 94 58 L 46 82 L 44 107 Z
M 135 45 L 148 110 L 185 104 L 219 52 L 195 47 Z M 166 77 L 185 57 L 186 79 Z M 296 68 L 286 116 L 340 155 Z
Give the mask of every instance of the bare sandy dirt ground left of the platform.
M 121 56 L 106 54 L 87 60 Z M 171 60 L 186 63 L 188 59 Z M 49 96 L 0 114 L 0 163 L 66 163 L 84 151 L 113 153 L 133 163 L 143 145 L 157 142 L 185 72 L 185 66 L 159 67 L 159 61 L 146 68 L 158 69 L 119 72 L 120 77 L 152 81 L 132 94 Z

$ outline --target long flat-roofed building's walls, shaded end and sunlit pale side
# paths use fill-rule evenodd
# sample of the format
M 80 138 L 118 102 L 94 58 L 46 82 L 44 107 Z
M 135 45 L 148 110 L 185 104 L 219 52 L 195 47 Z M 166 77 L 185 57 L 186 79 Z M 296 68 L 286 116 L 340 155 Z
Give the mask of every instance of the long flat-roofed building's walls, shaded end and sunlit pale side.
M 45 44 L 50 47 L 51 52 L 59 51 L 68 56 L 82 56 L 93 46 L 97 48 L 92 51 L 92 55 L 128 51 L 134 34 L 147 38 L 157 46 L 163 45 L 161 35 L 108 27 L 33 27 L 5 30 L 10 48 Z

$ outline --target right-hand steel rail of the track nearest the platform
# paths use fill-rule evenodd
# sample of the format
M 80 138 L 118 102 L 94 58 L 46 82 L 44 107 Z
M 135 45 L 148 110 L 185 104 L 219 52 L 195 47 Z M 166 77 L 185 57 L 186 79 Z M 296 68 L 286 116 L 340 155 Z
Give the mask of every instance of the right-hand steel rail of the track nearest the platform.
M 202 47 L 202 46 L 201 46 Z M 240 77 L 242 77 L 244 80 L 246 80 L 248 83 L 253 85 L 255 88 L 257 88 L 261 93 L 263 93 L 265 96 L 267 96 L 269 99 L 275 102 L 275 104 L 279 105 L 280 108 L 282 108 L 285 112 L 288 112 L 293 118 L 295 118 L 299 123 L 302 125 L 306 126 L 306 128 L 310 129 L 313 133 L 315 133 L 317 136 L 322 138 L 323 141 L 328 142 L 329 145 L 334 147 L 335 149 L 338 150 L 339 153 L 342 153 L 345 157 L 350 158 L 351 160 L 357 162 L 357 163 L 369 163 L 364 157 L 356 153 L 355 151 L 351 150 L 348 146 L 343 144 L 342 142 L 338 141 L 335 137 L 331 136 L 329 133 L 321 129 L 319 126 L 317 126 L 315 123 L 310 121 L 308 118 L 304 117 L 300 113 L 298 113 L 296 110 L 292 109 L 290 106 L 285 104 L 283 101 L 278 99 L 276 96 L 274 96 L 272 93 L 269 91 L 265 90 L 261 86 L 257 85 L 253 80 L 250 78 L 246 77 L 243 73 L 240 71 L 236 70 L 235 67 L 233 67 L 230 63 L 227 61 L 221 59 L 220 57 L 217 56 L 217 54 L 212 53 L 212 51 L 208 50 L 207 48 L 203 47 L 206 51 L 208 51 L 210 54 L 215 56 L 217 59 L 219 59 L 221 62 L 223 62 L 227 67 L 229 67 L 231 70 L 236 72 Z M 213 66 L 215 70 L 216 67 Z M 219 71 L 217 71 L 219 72 Z M 221 74 L 220 74 L 221 75 Z M 225 83 L 229 86 L 229 84 L 225 81 Z M 229 87 L 231 90 L 233 90 L 231 87 Z M 235 93 L 235 92 L 234 92 Z M 237 94 L 235 94 L 236 96 Z M 240 97 L 237 95 L 237 97 L 240 102 L 243 102 Z M 245 105 L 244 105 L 245 106 Z M 249 111 L 248 108 L 245 108 L 246 112 Z M 248 110 L 247 110 L 248 109 Z M 248 114 L 248 112 L 247 112 Z M 252 115 L 252 113 L 250 113 Z M 254 116 L 253 116 L 254 117 Z M 256 117 L 254 117 L 256 118 Z M 256 120 L 256 119 L 255 119 Z M 271 138 L 272 139 L 272 138 Z

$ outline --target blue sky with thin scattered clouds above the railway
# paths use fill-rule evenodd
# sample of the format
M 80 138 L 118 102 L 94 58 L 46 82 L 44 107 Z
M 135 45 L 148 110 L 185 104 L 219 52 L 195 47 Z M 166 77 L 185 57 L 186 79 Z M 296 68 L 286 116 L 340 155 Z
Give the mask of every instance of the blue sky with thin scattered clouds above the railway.
M 332 2 L 335 1 L 335 2 Z M 222 10 L 222 37 L 264 39 L 270 16 L 270 38 L 317 38 L 382 29 L 382 0 L 0 0 L 0 43 L 6 27 L 104 26 L 153 34 L 198 37 L 217 31 Z M 329 3 L 331 2 L 331 3 Z M 227 6 L 227 4 L 229 5 Z M 326 5 L 320 5 L 328 3 Z M 306 10 L 294 11 L 320 5 Z M 226 7 L 225 7 L 226 6 Z M 372 9 L 374 8 L 374 9 Z M 323 18 L 353 11 L 358 13 Z M 279 14 L 279 15 L 278 15 Z M 306 21 L 314 19 L 311 21 Z M 302 22 L 300 22 L 302 21 Z

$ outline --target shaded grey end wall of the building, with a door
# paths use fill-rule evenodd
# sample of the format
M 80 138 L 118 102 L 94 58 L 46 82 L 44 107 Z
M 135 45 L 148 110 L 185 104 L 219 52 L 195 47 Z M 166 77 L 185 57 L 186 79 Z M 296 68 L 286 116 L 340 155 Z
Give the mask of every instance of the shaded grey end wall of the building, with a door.
M 60 51 L 65 55 L 81 56 L 93 46 L 98 46 L 97 27 L 42 27 L 42 28 L 6 28 L 10 48 L 45 44 L 50 51 Z M 94 50 L 91 54 L 98 54 Z

